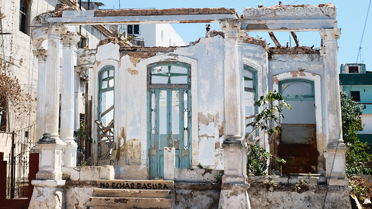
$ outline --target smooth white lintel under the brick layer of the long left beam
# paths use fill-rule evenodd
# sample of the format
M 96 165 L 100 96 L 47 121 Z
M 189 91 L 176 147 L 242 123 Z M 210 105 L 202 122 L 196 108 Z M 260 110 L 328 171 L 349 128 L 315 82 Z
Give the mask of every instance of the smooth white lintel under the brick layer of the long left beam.
M 63 13 L 66 11 L 63 11 Z M 79 14 L 79 13 L 78 13 Z M 190 14 L 190 15 L 146 15 L 146 16 L 80 16 L 49 17 L 47 22 L 61 22 L 69 25 L 97 24 L 159 24 L 219 22 L 220 19 L 237 19 L 236 14 Z

